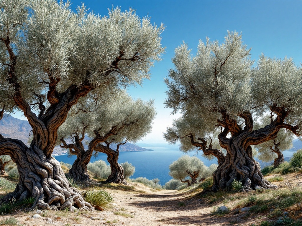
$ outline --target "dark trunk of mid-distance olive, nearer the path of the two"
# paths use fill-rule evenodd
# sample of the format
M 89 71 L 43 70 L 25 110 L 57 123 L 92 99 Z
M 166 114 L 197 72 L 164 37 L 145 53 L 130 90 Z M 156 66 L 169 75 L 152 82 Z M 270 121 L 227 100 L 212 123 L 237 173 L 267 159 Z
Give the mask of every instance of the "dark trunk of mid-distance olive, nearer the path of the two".
M 99 144 L 95 147 L 95 150 L 98 152 L 103 152 L 107 155 L 107 160 L 110 164 L 111 174 L 109 175 L 108 179 L 105 181 L 106 183 L 121 183 L 127 184 L 127 181 L 124 178 L 124 168 L 118 163 L 118 156 L 119 156 L 119 146 L 117 145 L 117 149 L 113 150 L 109 147 L 109 143 L 107 146 Z

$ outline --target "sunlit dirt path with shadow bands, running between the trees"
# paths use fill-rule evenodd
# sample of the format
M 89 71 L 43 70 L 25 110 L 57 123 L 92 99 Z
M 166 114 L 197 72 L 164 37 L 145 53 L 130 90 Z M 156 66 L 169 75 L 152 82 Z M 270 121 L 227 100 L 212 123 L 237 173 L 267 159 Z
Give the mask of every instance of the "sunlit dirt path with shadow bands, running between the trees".
M 146 191 L 127 193 L 117 191 L 113 195 L 117 205 L 123 206 L 133 218 L 124 218 L 129 226 L 174 226 L 174 225 L 250 225 L 253 218 L 245 220 L 244 214 L 217 217 L 211 213 L 218 207 L 207 204 L 202 199 L 191 199 L 177 191 Z M 219 205 L 221 206 L 221 205 Z M 245 222 L 246 221 L 246 222 Z M 236 224 L 236 222 L 239 222 Z

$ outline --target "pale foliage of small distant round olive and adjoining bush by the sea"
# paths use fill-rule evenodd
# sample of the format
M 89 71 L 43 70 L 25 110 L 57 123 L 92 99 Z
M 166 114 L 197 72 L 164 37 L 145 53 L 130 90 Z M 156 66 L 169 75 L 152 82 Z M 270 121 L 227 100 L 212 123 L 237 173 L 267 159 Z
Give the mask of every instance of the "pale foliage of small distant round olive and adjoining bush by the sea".
M 178 180 L 189 178 L 189 173 L 194 174 L 199 171 L 198 178 L 207 178 L 216 170 L 217 165 L 213 164 L 209 168 L 195 156 L 183 155 L 178 160 L 169 165 L 169 175 Z

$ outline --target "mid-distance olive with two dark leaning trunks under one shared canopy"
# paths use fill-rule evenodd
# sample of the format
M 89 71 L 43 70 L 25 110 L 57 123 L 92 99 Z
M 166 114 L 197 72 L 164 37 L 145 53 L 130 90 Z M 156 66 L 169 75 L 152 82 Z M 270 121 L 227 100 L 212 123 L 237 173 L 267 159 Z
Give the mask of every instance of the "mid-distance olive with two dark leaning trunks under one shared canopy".
M 92 108 L 90 104 L 88 106 L 88 109 Z M 69 176 L 74 180 L 89 180 L 87 164 L 96 151 L 105 153 L 110 163 L 111 174 L 106 182 L 126 184 L 124 169 L 118 163 L 119 147 L 125 141 L 136 142 L 146 136 L 151 131 L 155 115 L 153 101 L 134 101 L 126 92 L 111 100 L 99 101 L 93 111 L 88 111 L 87 106 L 75 106 L 58 135 L 61 147 L 68 148 L 71 155 L 77 156 Z M 88 149 L 83 144 L 86 134 Z M 69 144 L 66 138 L 71 139 Z M 115 150 L 110 147 L 111 143 L 117 143 Z

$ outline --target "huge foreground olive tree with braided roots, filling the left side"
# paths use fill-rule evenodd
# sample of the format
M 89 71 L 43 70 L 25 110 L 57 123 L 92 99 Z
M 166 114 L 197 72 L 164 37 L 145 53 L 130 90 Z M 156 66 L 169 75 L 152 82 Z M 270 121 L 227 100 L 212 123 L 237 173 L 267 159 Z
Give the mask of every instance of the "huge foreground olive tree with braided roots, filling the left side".
M 41 209 L 92 209 L 51 156 L 57 130 L 79 98 L 149 78 L 164 51 L 163 26 L 131 9 L 101 17 L 56 0 L 3 0 L 0 8 L 0 95 L 11 97 L 33 130 L 29 147 L 0 136 L 0 155 L 10 155 L 20 174 L 5 198 L 31 196 Z

